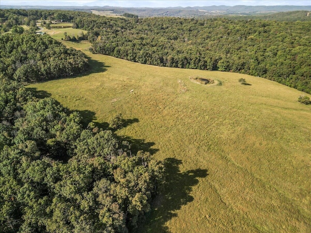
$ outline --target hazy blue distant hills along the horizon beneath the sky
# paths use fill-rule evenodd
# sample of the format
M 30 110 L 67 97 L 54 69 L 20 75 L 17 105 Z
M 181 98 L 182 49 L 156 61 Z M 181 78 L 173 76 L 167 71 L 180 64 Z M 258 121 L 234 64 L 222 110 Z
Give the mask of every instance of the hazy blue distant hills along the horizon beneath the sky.
M 57 4 L 57 3 L 56 3 Z M 113 7 L 113 6 L 9 6 L 1 5 L 1 9 L 61 9 L 73 11 L 112 11 L 113 14 L 122 15 L 124 13 L 131 13 L 139 17 L 208 17 L 208 16 L 222 16 L 222 15 L 260 15 L 277 12 L 288 11 L 311 11 L 311 6 L 197 6 L 197 7 Z

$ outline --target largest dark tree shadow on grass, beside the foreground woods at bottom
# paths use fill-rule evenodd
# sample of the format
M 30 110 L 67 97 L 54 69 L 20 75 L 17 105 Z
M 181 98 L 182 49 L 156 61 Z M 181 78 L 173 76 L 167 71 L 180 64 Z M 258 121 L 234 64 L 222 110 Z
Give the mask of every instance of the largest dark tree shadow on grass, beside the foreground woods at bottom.
M 164 160 L 166 183 L 153 202 L 153 210 L 138 232 L 169 233 L 165 223 L 177 216 L 175 211 L 193 201 L 190 195 L 192 187 L 199 183 L 198 178 L 207 177 L 206 169 L 180 171 L 181 160 L 167 158 Z

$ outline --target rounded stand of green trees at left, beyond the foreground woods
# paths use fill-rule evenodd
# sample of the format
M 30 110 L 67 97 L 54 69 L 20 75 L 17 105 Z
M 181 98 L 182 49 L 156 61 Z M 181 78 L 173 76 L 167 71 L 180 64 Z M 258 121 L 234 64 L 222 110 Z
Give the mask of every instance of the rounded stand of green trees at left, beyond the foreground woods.
M 66 48 L 49 35 L 6 33 L 0 36 L 0 78 L 44 81 L 76 75 L 89 68 L 86 55 Z

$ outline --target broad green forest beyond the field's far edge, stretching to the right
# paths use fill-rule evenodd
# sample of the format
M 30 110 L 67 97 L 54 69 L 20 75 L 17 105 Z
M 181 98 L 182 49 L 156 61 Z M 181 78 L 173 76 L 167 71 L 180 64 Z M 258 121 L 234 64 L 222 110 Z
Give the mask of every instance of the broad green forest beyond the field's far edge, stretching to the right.
M 311 22 L 74 18 L 93 52 L 164 67 L 260 76 L 311 93 Z

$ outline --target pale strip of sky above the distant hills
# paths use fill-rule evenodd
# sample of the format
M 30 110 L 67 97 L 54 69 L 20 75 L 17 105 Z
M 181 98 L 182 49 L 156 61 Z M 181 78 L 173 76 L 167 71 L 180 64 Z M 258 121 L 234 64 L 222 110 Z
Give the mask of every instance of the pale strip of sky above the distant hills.
M 119 7 L 174 7 L 212 5 L 298 5 L 310 6 L 311 0 L 0 0 L 0 5 L 28 6 L 119 6 Z

